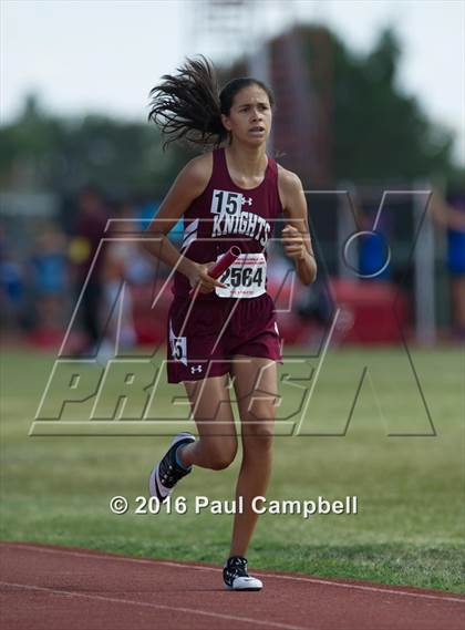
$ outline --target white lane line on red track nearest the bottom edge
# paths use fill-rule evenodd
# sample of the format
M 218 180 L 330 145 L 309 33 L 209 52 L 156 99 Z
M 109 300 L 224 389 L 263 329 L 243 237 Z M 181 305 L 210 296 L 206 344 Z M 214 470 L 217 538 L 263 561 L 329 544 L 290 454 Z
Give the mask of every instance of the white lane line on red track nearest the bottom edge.
M 167 606 L 164 603 L 151 603 L 149 601 L 137 601 L 135 599 L 118 599 L 115 597 L 105 597 L 103 595 L 90 595 L 87 592 L 78 592 L 74 590 L 60 590 L 35 585 L 22 585 L 17 582 L 0 581 L 0 586 L 9 586 L 13 588 L 22 588 L 27 590 L 39 590 L 51 592 L 53 595 L 69 595 L 71 597 L 83 597 L 85 599 L 96 599 L 111 603 L 130 603 L 132 606 L 143 606 L 145 608 L 156 608 L 157 610 L 169 610 L 170 612 L 188 612 L 189 614 L 202 614 L 204 617 L 215 617 L 216 619 L 226 619 L 228 621 L 239 621 L 244 623 L 252 623 L 255 626 L 266 626 L 267 628 L 280 628 L 280 630 L 309 630 L 304 626 L 290 626 L 289 623 L 279 623 L 278 621 L 265 621 L 260 619 L 251 619 L 250 617 L 238 617 L 235 614 L 223 614 L 221 612 L 208 612 L 207 610 L 198 610 L 196 608 L 185 608 L 182 606 Z

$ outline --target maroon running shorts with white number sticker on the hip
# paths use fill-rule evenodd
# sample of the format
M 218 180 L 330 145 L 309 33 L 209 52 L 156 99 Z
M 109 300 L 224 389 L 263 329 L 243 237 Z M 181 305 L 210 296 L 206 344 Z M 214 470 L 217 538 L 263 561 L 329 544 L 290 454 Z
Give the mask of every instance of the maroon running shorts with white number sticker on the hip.
M 197 297 L 195 302 L 175 297 L 167 329 L 168 383 L 227 374 L 235 354 L 282 363 L 275 304 L 268 293 L 247 299 Z

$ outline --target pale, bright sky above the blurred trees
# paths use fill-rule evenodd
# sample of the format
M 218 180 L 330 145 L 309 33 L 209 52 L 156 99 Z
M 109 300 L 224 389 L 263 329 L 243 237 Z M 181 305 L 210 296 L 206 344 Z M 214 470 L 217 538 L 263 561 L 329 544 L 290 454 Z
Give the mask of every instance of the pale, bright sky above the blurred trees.
M 230 27 L 205 25 L 202 0 L 2 0 L 1 120 L 35 91 L 64 113 L 146 120 L 147 93 L 184 55 L 225 56 L 290 22 L 318 20 L 366 51 L 392 25 L 404 48 L 400 82 L 457 136 L 465 163 L 465 4 L 462 0 L 256 0 Z M 285 7 L 285 9 L 282 9 Z M 226 30 L 225 30 L 226 29 Z

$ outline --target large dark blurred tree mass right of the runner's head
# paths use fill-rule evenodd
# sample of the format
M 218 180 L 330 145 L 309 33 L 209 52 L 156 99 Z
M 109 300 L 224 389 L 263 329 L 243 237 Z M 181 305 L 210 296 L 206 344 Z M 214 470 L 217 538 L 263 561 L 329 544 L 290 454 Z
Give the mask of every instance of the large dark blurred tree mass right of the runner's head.
M 273 148 L 306 183 L 457 176 L 453 133 L 428 120 L 399 85 L 401 47 L 393 31 L 359 54 L 327 28 L 300 25 L 269 50 L 278 105 Z M 246 72 L 239 62 L 223 79 Z

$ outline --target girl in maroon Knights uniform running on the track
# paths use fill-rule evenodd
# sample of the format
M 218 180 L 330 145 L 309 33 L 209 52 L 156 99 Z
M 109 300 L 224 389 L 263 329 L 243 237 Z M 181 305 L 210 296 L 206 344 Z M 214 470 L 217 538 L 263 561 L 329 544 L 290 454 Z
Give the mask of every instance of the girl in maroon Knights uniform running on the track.
M 204 151 L 216 148 L 184 167 L 148 228 L 158 238 L 147 249 L 175 268 L 168 382 L 184 383 L 198 430 L 198 440 L 189 433 L 174 437 L 152 472 L 149 488 L 163 500 L 194 466 L 219 471 L 234 461 L 238 444 L 230 375 L 242 444 L 236 496 L 244 497 L 245 509 L 235 515 L 224 580 L 234 590 L 259 590 L 262 583 L 248 576 L 245 556 L 257 521 L 250 503 L 265 495 L 271 472 L 276 362 L 281 361 L 266 288 L 266 247 L 273 223 L 283 215 L 285 251 L 300 280 L 313 282 L 306 197 L 299 178 L 266 154 L 273 97 L 261 81 L 234 79 L 218 93 L 214 68 L 200 58 L 187 60 L 178 74 L 165 75 L 151 95 L 149 120 L 164 132 L 165 145 L 185 138 Z M 182 216 L 178 251 L 166 235 Z M 208 270 L 231 246 L 241 255 L 215 280 Z

